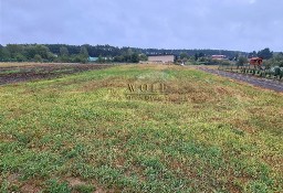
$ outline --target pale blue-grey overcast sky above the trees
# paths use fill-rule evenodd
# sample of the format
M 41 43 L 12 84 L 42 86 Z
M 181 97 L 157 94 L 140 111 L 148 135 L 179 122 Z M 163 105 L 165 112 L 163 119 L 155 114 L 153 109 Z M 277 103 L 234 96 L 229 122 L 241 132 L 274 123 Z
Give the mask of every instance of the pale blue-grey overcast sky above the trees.
M 0 44 L 283 51 L 282 0 L 0 0 Z

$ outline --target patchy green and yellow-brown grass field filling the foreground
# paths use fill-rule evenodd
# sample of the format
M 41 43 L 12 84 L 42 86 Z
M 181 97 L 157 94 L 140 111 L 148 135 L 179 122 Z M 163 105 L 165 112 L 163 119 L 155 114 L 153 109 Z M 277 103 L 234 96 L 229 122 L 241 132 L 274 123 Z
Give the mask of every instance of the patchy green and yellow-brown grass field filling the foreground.
M 128 84 L 169 99 L 129 100 Z M 189 67 L 0 87 L 0 192 L 280 193 L 282 141 L 282 94 Z

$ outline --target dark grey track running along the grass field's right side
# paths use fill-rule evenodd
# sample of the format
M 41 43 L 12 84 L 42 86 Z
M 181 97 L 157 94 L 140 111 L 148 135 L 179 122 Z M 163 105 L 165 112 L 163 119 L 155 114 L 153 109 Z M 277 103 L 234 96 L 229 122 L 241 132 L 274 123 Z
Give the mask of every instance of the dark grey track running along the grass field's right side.
M 272 89 L 281 93 L 283 92 L 283 83 L 275 79 L 260 78 L 251 75 L 230 73 L 230 72 L 218 71 L 218 69 L 208 68 L 208 67 L 198 67 L 198 68 L 207 73 L 212 73 L 212 74 L 229 77 L 232 79 L 245 82 L 245 83 L 252 84 L 253 86 L 268 88 L 268 89 Z

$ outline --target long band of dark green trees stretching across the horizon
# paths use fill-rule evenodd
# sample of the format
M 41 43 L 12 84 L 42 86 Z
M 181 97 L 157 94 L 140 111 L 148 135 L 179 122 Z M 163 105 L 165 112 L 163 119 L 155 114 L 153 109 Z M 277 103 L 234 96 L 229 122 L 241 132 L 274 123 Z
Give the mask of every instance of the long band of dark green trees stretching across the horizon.
M 117 47 L 106 45 L 67 45 L 67 44 L 7 44 L 0 45 L 0 62 L 67 62 L 86 63 L 90 57 L 97 57 L 98 63 L 138 63 L 147 61 L 147 55 L 172 54 L 179 60 L 195 60 L 206 62 L 211 55 L 226 55 L 230 61 L 238 61 L 240 56 L 262 56 L 272 58 L 273 52 L 264 49 L 259 52 L 239 52 L 226 50 L 165 50 Z

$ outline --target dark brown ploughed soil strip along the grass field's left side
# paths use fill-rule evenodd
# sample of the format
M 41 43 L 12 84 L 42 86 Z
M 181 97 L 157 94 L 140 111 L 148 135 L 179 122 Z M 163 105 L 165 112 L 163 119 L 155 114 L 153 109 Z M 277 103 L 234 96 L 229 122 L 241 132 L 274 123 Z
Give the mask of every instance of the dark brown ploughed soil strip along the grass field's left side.
M 34 79 L 62 77 L 91 69 L 102 69 L 113 65 L 96 64 L 30 64 L 19 66 L 0 66 L 0 85 Z

